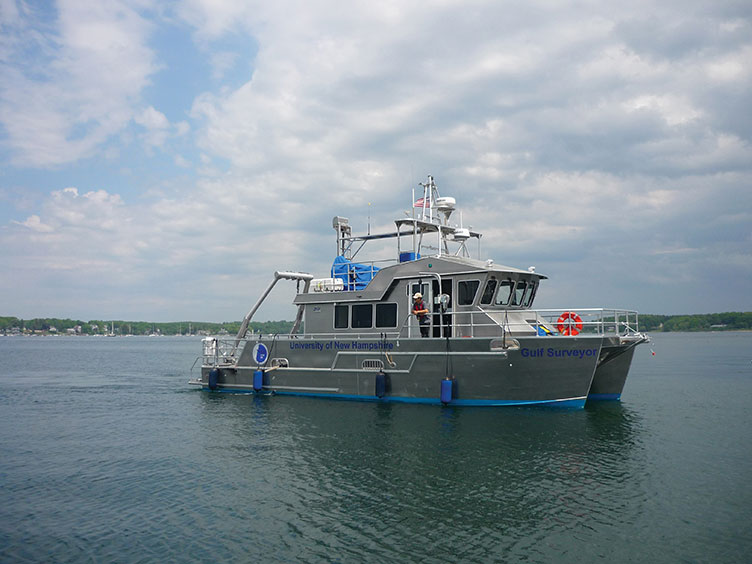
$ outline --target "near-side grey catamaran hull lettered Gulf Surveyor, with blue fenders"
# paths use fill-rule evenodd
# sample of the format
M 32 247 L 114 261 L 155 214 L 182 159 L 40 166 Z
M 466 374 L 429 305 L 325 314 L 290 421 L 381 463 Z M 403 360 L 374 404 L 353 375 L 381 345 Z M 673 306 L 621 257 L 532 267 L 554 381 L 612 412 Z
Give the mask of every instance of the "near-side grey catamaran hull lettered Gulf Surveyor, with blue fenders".
M 194 383 L 225 392 L 360 401 L 584 406 L 601 338 L 516 341 L 514 347 L 498 338 L 252 341 L 236 365 L 206 365 Z M 254 362 L 259 344 L 268 351 L 263 363 Z M 447 379 L 451 384 L 443 383 Z

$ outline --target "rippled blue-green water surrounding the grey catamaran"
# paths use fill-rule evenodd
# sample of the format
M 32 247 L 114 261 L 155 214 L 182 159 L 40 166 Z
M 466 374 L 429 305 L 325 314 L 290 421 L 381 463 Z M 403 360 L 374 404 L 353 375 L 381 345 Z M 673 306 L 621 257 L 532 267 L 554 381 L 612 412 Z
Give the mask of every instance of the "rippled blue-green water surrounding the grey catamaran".
M 752 333 L 580 411 L 210 394 L 200 342 L 0 338 L 2 562 L 749 562 Z

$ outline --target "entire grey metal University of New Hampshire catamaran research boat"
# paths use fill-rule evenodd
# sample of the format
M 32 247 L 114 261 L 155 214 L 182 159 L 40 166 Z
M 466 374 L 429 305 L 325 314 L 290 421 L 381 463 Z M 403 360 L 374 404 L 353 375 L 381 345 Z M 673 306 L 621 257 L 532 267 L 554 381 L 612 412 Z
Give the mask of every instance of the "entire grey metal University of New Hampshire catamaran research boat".
M 634 349 L 648 340 L 636 311 L 533 309 L 546 276 L 473 258 L 481 233 L 452 223 L 456 200 L 429 176 L 412 212 L 387 233 L 353 235 L 335 217 L 329 276 L 277 271 L 234 338 L 203 341 L 209 391 L 437 405 L 583 407 L 618 400 Z M 421 197 L 416 200 L 416 196 Z M 394 259 L 358 257 L 396 240 Z M 297 282 L 286 335 L 249 333 L 280 280 Z M 426 313 L 413 313 L 420 295 Z M 421 331 L 421 326 L 423 325 Z

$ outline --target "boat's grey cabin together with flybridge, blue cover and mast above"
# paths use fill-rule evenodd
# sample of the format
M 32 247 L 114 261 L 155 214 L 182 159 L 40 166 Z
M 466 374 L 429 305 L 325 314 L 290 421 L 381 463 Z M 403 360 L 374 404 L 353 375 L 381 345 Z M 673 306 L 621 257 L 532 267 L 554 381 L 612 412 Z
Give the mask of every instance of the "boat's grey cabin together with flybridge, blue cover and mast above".
M 481 234 L 449 223 L 455 200 L 440 197 L 430 176 L 422 186 L 413 217 L 397 219 L 395 232 L 353 236 L 346 218 L 333 219 L 337 257 L 332 277 L 311 280 L 294 301 L 306 334 L 419 335 L 411 315 L 416 293 L 431 312 L 433 337 L 498 335 L 501 322 L 508 324 L 510 315 L 519 318 L 532 307 L 546 277 L 532 267 L 519 270 L 470 258 L 467 242 L 480 242 Z M 354 261 L 366 242 L 384 238 L 397 239 L 398 259 L 383 267 Z M 407 250 L 404 239 L 412 241 Z M 421 256 L 426 249 L 433 254 Z

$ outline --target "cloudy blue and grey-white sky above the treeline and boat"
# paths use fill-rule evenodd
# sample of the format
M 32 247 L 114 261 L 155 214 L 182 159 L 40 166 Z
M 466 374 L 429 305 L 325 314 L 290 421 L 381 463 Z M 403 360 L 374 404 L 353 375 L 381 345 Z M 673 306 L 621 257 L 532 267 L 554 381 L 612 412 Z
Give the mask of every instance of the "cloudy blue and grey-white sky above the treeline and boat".
M 0 315 L 239 320 L 429 174 L 537 307 L 752 311 L 751 140 L 745 0 L 0 0 Z

